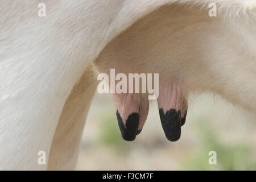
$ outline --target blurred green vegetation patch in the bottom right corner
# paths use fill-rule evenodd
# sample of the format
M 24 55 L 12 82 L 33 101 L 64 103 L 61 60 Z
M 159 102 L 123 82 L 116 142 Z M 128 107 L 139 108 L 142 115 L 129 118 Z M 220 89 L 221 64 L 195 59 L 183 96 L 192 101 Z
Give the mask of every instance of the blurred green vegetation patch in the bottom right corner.
M 184 160 L 182 170 L 255 170 L 256 162 L 253 159 L 253 148 L 249 144 L 222 143 L 216 127 L 209 119 L 200 119 L 196 122 L 197 135 L 200 139 L 200 148 L 191 152 Z M 212 124 L 212 125 L 211 125 Z M 209 151 L 216 151 L 217 164 L 210 165 Z

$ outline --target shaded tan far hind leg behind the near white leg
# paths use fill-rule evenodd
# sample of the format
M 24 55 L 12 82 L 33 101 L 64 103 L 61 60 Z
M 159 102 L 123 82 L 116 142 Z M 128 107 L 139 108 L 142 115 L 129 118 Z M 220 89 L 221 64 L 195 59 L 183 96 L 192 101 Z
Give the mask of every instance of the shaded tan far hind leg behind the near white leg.
M 69 95 L 49 154 L 48 170 L 75 169 L 85 119 L 96 90 L 93 71 L 87 69 Z

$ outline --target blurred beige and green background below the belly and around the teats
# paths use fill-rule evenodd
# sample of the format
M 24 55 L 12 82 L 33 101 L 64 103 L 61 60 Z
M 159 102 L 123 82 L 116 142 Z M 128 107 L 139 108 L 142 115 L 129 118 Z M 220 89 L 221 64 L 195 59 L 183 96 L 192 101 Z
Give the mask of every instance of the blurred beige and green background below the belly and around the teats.
M 189 97 L 181 138 L 164 136 L 156 102 L 142 133 L 122 139 L 112 98 L 96 94 L 82 137 L 77 170 L 256 170 L 256 119 L 218 96 Z M 209 151 L 217 164 L 210 165 Z

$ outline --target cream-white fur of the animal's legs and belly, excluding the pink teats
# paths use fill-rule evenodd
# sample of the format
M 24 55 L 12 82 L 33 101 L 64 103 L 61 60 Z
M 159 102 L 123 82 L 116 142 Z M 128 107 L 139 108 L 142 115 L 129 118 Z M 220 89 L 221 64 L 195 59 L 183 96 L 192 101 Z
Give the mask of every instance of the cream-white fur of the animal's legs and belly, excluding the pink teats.
M 218 18 L 205 15 L 204 5 L 212 2 Z M 88 67 L 143 16 L 106 46 L 98 69 L 122 69 L 127 54 L 134 56 L 130 72 L 139 64 L 145 72 L 171 73 L 187 93 L 211 90 L 256 111 L 254 0 L 44 3 L 47 16 L 41 18 L 38 1 L 1 1 L 0 169 L 75 167 L 95 90 Z M 37 163 L 41 150 L 48 167 Z

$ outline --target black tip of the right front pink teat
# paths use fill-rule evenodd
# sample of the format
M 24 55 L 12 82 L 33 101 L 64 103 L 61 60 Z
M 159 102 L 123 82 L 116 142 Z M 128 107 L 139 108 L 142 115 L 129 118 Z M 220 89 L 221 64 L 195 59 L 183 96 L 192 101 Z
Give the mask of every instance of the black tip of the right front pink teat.
M 180 111 L 170 109 L 164 114 L 161 108 L 159 109 L 159 114 L 166 138 L 171 142 L 179 140 L 181 135 Z

